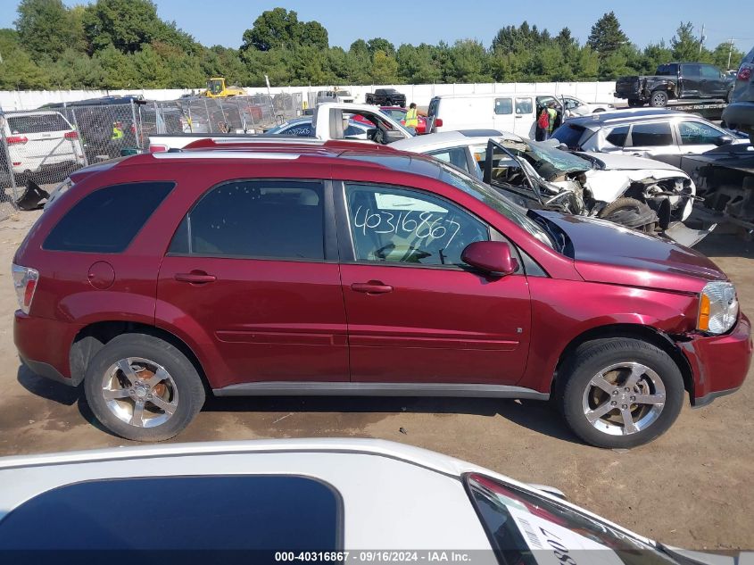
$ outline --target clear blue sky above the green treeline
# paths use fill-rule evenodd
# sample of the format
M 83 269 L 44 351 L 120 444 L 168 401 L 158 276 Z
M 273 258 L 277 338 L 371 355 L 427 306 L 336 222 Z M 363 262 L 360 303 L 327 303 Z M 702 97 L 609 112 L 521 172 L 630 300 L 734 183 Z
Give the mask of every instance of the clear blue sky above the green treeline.
M 86 0 L 63 0 L 86 4 Z M 622 0 L 583 2 L 574 0 L 403 0 L 385 4 L 356 0 L 156 0 L 164 20 L 176 21 L 204 45 L 237 47 L 244 30 L 264 10 L 276 6 L 298 12 L 299 20 L 317 20 L 329 33 L 330 45 L 348 48 L 358 38 L 385 37 L 401 43 L 436 44 L 441 39 L 476 38 L 489 46 L 495 32 L 526 20 L 556 32 L 568 26 L 584 42 L 592 24 L 603 12 L 616 12 L 621 27 L 638 46 L 673 37 L 680 21 L 691 21 L 697 32 L 705 24 L 705 45 L 714 48 L 733 37 L 744 52 L 754 46 L 751 0 Z M 0 27 L 12 26 L 14 0 L 3 0 Z M 15 3 L 17 5 L 17 3 Z M 599 6 L 599 7 L 597 7 Z

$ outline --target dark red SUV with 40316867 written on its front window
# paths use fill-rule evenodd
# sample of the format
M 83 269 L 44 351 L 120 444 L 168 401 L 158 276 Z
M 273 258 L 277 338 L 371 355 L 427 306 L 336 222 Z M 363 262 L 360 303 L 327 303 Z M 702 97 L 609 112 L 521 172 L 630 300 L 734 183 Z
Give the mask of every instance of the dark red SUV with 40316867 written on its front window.
M 21 359 L 120 436 L 175 436 L 208 391 L 553 396 L 627 447 L 746 376 L 700 253 L 387 147 L 205 145 L 77 171 L 14 258 Z

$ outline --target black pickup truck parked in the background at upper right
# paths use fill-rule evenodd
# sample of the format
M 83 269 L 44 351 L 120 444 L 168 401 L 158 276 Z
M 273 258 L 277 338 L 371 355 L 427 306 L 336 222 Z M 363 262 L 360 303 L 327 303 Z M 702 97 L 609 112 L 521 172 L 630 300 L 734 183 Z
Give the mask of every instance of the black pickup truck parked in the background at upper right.
M 616 80 L 617 98 L 627 98 L 632 108 L 650 103 L 664 107 L 668 100 L 716 98 L 730 102 L 733 79 L 715 65 L 704 62 L 668 62 L 654 75 L 631 75 Z

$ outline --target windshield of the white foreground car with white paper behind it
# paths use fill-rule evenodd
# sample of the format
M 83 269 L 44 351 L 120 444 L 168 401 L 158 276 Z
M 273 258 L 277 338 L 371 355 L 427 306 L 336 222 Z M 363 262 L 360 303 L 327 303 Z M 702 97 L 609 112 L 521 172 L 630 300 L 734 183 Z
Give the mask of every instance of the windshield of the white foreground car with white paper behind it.
M 526 565 L 549 562 L 544 553 L 554 553 L 563 563 L 676 562 L 638 537 L 565 504 L 483 475 L 468 475 L 465 481 L 487 536 L 505 562 Z

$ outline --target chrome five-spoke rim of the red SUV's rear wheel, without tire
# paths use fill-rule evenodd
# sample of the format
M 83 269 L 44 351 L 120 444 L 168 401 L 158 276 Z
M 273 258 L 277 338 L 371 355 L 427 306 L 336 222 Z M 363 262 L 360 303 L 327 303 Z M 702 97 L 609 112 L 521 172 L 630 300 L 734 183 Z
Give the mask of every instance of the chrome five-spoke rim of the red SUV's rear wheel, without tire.
M 104 372 L 102 395 L 108 409 L 137 428 L 154 428 L 178 408 L 178 387 L 162 365 L 141 357 L 114 362 Z

